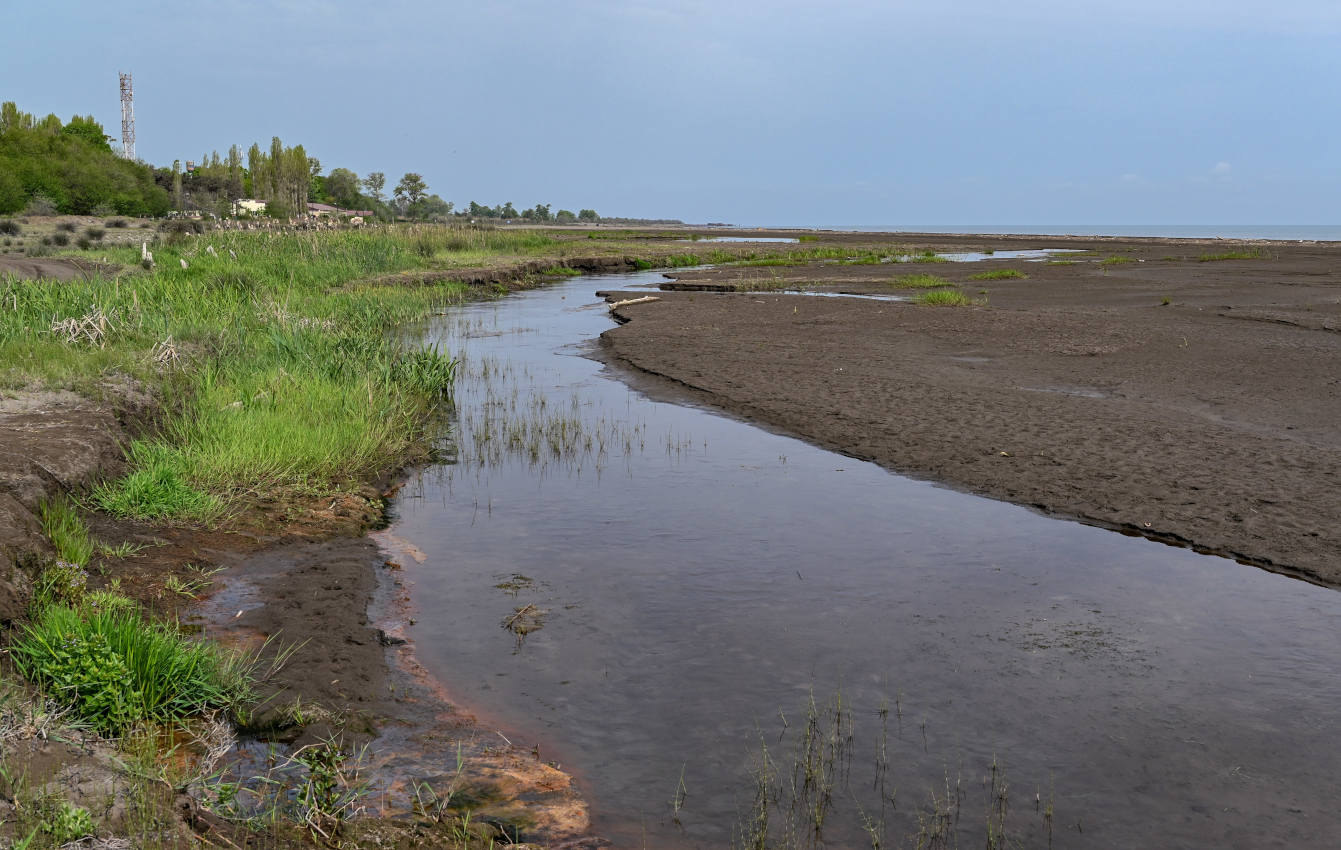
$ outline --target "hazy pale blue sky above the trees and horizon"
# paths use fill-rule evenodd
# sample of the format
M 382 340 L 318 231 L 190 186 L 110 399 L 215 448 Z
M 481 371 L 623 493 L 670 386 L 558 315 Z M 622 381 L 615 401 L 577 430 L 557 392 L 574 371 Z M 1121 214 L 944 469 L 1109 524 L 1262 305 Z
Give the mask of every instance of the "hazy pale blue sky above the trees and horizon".
M 156 165 L 302 143 L 459 206 L 1336 224 L 1336 0 L 4 3 L 0 101 Z

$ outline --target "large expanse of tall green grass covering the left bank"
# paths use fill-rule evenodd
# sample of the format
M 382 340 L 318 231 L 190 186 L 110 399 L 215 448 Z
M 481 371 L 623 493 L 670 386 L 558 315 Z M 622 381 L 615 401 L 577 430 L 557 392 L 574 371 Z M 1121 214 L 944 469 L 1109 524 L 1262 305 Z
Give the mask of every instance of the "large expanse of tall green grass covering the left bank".
M 460 300 L 465 287 L 351 282 L 425 265 L 425 244 L 434 253 L 449 243 L 461 252 L 527 252 L 550 241 L 448 228 L 216 233 L 160 245 L 158 269 L 148 275 L 0 280 L 8 307 L 0 383 L 97 394 L 109 374 L 121 374 L 181 400 L 158 434 L 133 444 L 131 472 L 99 487 L 94 501 L 121 516 L 211 522 L 240 497 L 393 468 L 421 442 L 455 363 L 392 332 Z M 107 253 L 126 265 L 138 260 L 138 249 Z M 71 341 L 52 332 L 58 322 L 95 332 Z

